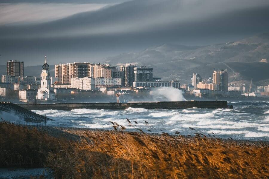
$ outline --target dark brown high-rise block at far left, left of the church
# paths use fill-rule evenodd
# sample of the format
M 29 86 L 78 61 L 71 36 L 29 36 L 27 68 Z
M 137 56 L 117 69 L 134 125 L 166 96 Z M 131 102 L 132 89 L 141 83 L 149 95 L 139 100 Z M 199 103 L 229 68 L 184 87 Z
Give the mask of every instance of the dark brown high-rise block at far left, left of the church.
M 24 75 L 23 61 L 11 60 L 7 62 L 7 75 L 23 77 Z

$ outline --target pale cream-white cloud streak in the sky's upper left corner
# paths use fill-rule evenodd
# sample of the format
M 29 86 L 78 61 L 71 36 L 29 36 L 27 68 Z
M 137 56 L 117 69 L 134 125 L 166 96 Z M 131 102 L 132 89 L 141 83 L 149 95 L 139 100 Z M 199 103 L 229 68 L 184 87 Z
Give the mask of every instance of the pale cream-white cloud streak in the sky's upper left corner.
M 0 26 L 54 21 L 68 16 L 99 10 L 108 4 L 1 3 Z

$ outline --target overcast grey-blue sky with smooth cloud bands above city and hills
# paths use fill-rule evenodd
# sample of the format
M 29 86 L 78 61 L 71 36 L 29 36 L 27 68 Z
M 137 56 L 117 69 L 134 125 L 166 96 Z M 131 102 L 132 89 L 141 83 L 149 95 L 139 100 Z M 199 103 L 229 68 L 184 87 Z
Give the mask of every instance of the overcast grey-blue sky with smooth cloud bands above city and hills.
M 75 2 L 75 3 L 74 3 Z M 163 43 L 226 43 L 269 31 L 268 0 L 0 0 L 0 64 L 98 62 Z

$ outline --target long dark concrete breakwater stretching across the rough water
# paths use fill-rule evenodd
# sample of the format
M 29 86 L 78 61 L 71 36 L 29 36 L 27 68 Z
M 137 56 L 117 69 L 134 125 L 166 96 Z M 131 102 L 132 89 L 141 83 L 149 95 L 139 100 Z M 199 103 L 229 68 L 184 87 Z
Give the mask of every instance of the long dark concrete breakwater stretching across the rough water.
M 72 109 L 187 109 L 197 108 L 233 108 L 227 101 L 161 101 L 161 102 L 132 102 L 132 103 L 57 103 L 57 104 L 19 104 L 28 110 L 72 110 Z

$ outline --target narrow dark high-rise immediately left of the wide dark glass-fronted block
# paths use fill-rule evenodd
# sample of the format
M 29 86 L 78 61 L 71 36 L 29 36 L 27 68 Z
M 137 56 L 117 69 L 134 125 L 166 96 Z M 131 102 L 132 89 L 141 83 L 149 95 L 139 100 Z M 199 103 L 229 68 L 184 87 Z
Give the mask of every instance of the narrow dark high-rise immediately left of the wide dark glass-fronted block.
M 136 65 L 125 64 L 120 66 L 120 71 L 124 73 L 124 85 L 126 87 L 133 86 L 133 82 L 135 81 L 134 77 L 134 68 Z

